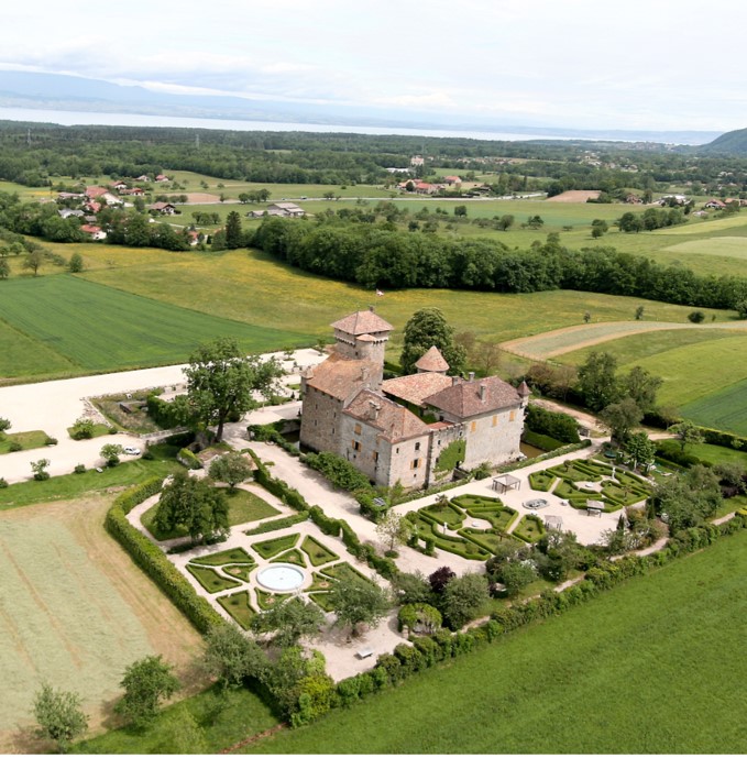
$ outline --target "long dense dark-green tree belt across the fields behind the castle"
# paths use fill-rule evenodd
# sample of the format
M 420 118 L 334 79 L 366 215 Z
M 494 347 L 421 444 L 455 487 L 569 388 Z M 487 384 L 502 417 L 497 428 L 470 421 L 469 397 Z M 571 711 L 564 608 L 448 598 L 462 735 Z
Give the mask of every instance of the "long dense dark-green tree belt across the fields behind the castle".
M 733 309 L 747 279 L 699 276 L 614 248 L 562 246 L 554 235 L 529 250 L 480 239 L 441 239 L 340 219 L 265 219 L 250 243 L 304 271 L 367 288 L 421 287 L 534 293 L 576 289 L 675 305 Z

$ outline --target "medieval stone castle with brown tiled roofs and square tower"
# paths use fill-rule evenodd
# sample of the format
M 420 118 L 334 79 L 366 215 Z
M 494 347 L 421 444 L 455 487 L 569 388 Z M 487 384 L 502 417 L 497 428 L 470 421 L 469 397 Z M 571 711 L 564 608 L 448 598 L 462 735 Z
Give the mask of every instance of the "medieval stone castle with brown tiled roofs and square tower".
M 529 397 L 497 376 L 447 376 L 431 348 L 416 374 L 384 381 L 392 325 L 360 310 L 331 325 L 329 358 L 301 377 L 300 442 L 347 458 L 378 485 L 428 487 L 464 469 L 520 457 Z

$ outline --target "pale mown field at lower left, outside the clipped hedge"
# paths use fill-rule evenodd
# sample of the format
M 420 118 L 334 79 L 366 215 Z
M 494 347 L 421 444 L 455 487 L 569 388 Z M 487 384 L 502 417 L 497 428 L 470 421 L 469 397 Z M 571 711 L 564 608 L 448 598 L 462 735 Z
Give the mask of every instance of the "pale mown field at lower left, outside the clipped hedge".
M 163 653 L 184 675 L 199 635 L 107 535 L 112 496 L 0 515 L 0 749 L 19 744 L 32 721 L 34 692 L 46 679 L 78 692 L 100 725 L 117 697 L 124 668 Z

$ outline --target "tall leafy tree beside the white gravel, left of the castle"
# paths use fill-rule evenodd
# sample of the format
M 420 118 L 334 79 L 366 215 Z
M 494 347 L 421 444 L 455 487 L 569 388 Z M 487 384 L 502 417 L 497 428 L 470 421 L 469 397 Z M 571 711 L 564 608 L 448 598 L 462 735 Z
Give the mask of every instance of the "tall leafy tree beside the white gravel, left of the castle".
M 216 440 L 223 438 L 223 425 L 231 414 L 244 414 L 256 406 L 253 392 L 267 395 L 283 375 L 275 360 L 244 356 L 235 340 L 219 338 L 201 344 L 184 370 L 187 403 L 193 421 L 217 425 Z

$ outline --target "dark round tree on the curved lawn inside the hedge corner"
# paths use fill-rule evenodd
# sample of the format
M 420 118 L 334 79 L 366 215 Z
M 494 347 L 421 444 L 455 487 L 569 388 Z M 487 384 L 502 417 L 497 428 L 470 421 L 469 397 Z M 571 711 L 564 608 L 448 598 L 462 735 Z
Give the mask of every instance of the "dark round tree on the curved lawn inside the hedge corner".
M 178 471 L 161 493 L 155 525 L 164 532 L 183 527 L 194 542 L 204 542 L 228 534 L 228 512 L 226 495 L 220 490 Z

